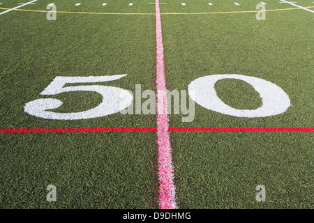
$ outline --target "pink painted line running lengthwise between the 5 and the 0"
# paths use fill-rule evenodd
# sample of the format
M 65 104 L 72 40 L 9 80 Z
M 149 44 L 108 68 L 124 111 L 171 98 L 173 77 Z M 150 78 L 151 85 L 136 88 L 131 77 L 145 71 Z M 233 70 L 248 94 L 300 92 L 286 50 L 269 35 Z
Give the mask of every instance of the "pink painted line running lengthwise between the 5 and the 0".
M 159 208 L 177 208 L 175 201 L 174 171 L 167 116 L 165 86 L 165 61 L 163 56 L 163 35 L 161 31 L 159 1 L 156 0 L 156 107 L 158 143 Z

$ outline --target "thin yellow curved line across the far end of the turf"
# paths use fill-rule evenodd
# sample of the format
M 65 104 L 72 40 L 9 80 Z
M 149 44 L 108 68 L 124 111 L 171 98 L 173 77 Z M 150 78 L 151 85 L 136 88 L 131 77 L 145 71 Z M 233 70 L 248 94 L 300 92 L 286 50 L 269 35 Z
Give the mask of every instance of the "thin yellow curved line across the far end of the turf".
M 314 8 L 314 6 L 308 6 L 304 8 Z M 1 8 L 4 10 L 9 10 L 10 8 Z M 269 9 L 265 12 L 273 11 L 283 11 L 283 10 L 295 10 L 301 8 L 280 8 L 280 9 Z M 70 14 L 88 14 L 88 15 L 156 15 L 155 13 L 89 13 L 89 12 L 65 12 L 65 11 L 47 11 L 47 10 L 29 10 L 29 9 L 15 9 L 17 11 L 26 11 L 26 12 L 37 12 L 37 13 L 70 13 Z M 209 13 L 160 13 L 161 15 L 207 15 L 207 14 L 232 14 L 232 13 L 257 13 L 257 10 L 254 11 L 233 11 L 233 12 L 209 12 Z

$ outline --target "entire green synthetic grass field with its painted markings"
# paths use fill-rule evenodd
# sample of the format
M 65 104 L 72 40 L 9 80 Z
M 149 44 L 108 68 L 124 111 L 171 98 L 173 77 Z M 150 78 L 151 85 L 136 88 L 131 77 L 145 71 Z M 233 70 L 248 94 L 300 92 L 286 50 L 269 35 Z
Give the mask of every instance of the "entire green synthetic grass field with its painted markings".
M 172 159 L 165 171 L 173 168 L 174 206 L 313 208 L 312 0 L 293 3 L 302 8 L 265 0 L 266 20 L 257 20 L 255 0 L 19 4 L 27 1 L 0 0 L 0 208 L 163 208 L 158 115 L 121 114 L 127 106 L 118 106 L 118 93 L 132 91 L 134 100 L 139 84 L 141 92 L 160 90 L 158 47 L 170 91 L 193 98 L 188 90 L 198 78 L 234 74 L 276 84 L 290 100 L 278 114 L 224 114 L 204 106 L 212 104 L 202 79 L 192 121 L 183 122 L 188 115 L 168 104 Z M 47 20 L 51 3 L 57 20 Z M 113 75 L 124 76 L 109 80 Z M 58 85 L 57 76 L 73 78 Z M 98 76 L 106 80 L 94 81 Z M 87 78 L 73 81 L 80 77 Z M 48 86 L 50 93 L 40 94 Z M 240 111 L 265 104 L 243 79 L 218 79 L 213 88 Z M 103 103 L 97 89 L 112 94 L 98 112 L 82 113 Z M 284 104 L 281 91 L 262 91 Z M 63 102 L 47 107 L 53 114 L 38 108 L 51 99 Z M 112 107 L 113 114 L 95 115 Z M 48 185 L 56 187 L 57 201 L 47 201 Z M 265 201 L 256 200 L 257 185 L 264 185 Z

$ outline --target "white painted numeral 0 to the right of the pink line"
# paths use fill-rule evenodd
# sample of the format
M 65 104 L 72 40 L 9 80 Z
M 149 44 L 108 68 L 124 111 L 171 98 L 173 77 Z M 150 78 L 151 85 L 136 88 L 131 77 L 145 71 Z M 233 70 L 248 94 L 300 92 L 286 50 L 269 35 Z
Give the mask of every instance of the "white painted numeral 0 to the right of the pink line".
M 255 110 L 234 109 L 218 98 L 214 88 L 220 79 L 240 79 L 251 84 L 262 98 L 262 107 Z M 188 85 L 188 93 L 202 107 L 230 116 L 255 118 L 274 116 L 285 112 L 290 107 L 289 96 L 276 84 L 264 79 L 244 75 L 209 75 L 200 77 Z

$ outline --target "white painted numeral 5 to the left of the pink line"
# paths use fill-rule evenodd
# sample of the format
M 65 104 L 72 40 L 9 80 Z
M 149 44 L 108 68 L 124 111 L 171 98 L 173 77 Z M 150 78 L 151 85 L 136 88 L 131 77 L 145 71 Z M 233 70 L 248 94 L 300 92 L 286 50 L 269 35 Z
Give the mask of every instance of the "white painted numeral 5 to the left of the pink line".
M 87 86 L 67 86 L 71 83 L 95 83 L 95 82 L 109 82 L 125 77 L 126 75 L 113 76 L 89 76 L 89 77 L 60 77 L 57 76 L 47 86 L 47 88 L 40 93 L 40 95 L 57 95 L 59 93 L 68 91 L 94 91 L 103 96 L 103 101 L 93 109 L 84 112 L 72 113 L 57 113 L 47 111 L 48 109 L 57 109 L 62 105 L 61 100 L 53 98 L 37 99 L 28 102 L 24 106 L 24 112 L 32 116 L 59 119 L 59 120 L 77 120 L 85 118 L 98 118 L 120 112 L 126 107 L 130 106 L 133 101 L 133 95 L 124 89 L 114 86 L 101 85 L 87 85 Z

